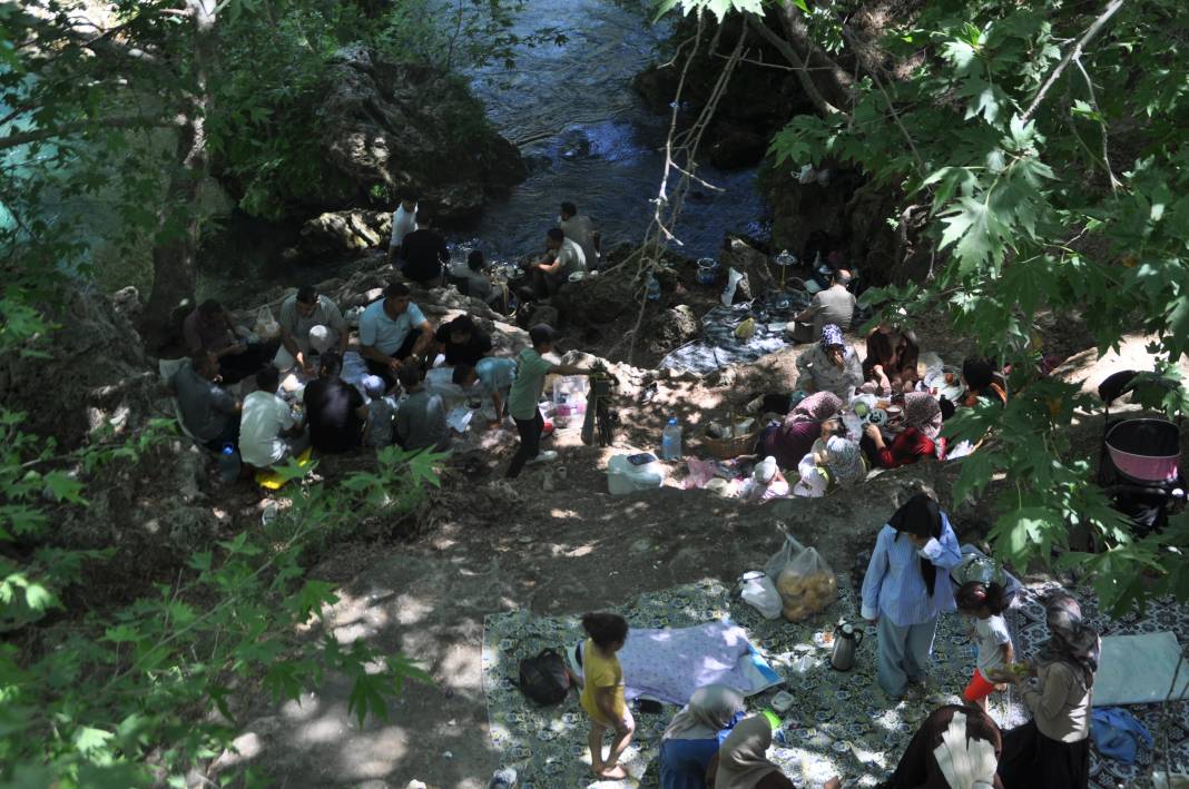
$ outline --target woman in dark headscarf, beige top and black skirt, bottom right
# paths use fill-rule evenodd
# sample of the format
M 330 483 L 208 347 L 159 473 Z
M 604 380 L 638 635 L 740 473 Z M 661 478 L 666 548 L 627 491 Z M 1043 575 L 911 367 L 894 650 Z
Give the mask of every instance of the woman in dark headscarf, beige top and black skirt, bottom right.
M 1064 593 L 1045 604 L 1049 640 L 1028 664 L 1036 687 L 1023 692 L 1032 720 L 1004 734 L 999 775 L 1006 789 L 1081 789 L 1090 779 L 1090 705 L 1099 633 Z

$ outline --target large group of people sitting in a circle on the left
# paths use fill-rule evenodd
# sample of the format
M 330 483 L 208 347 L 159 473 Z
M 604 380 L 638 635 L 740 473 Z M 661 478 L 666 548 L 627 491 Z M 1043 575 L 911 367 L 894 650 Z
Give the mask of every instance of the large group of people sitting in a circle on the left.
M 344 361 L 351 328 L 332 298 L 302 286 L 282 303 L 277 322 L 275 340 L 241 341 L 226 310 L 205 302 L 185 318 L 189 362 L 170 379 L 190 435 L 214 452 L 232 447 L 249 467 L 283 463 L 307 447 L 328 454 L 394 443 L 448 449 L 446 404 L 426 384 L 436 359 L 453 367 L 453 383 L 470 396 L 491 398 L 497 422 L 511 405 L 517 361 L 491 356 L 491 337 L 467 315 L 435 330 L 403 283 L 390 284 L 363 311 L 358 353 L 367 374 L 350 381 Z M 292 404 L 281 387 L 290 371 L 300 391 Z M 252 391 L 240 398 L 229 386 L 249 375 L 254 387 L 241 385 Z

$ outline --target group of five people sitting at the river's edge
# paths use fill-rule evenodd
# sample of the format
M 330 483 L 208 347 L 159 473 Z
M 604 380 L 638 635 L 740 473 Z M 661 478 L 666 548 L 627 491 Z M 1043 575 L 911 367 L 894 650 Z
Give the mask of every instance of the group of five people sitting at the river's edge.
M 600 245 L 591 219 L 579 214 L 574 203 L 562 202 L 556 226 L 546 233 L 545 254 L 526 264 L 527 283 L 517 296 L 524 301 L 545 301 L 570 282 L 572 274 L 597 270 Z M 392 213 L 388 259 L 398 263 L 404 276 L 422 288 L 453 284 L 464 295 L 496 309 L 508 304 L 508 293 L 492 282 L 482 250 L 472 250 L 465 266 L 451 266 L 446 241 L 434 232 L 428 212 L 419 209 L 415 195 L 404 195 Z

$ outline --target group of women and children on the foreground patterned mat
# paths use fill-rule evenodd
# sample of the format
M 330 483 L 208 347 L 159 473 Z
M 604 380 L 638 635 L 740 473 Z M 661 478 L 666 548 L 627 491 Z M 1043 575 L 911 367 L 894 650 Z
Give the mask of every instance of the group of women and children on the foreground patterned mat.
M 931 492 L 912 496 L 880 531 L 863 586 L 862 614 L 879 631 L 877 682 L 895 703 L 924 698 L 937 619 L 957 611 L 977 644 L 977 668 L 961 705 L 945 705 L 917 730 L 883 789 L 1080 789 L 1089 777 L 1089 724 L 1100 639 L 1077 601 L 1055 593 L 1046 601 L 1050 639 L 1026 663 L 1015 663 L 1002 613 L 1007 576 L 994 560 L 963 555 L 948 515 Z M 624 777 L 618 764 L 635 732 L 617 652 L 628 623 L 616 614 L 583 617 L 581 707 L 591 719 L 591 766 Z M 1023 669 L 1023 670 L 1013 670 Z M 577 677 L 575 677 L 577 678 Z M 1001 732 L 986 698 L 1005 683 L 1023 687 L 1033 714 Z M 955 689 L 956 690 L 956 689 Z M 767 751 L 779 720 L 748 715 L 744 699 L 725 686 L 696 690 L 661 738 L 662 789 L 788 789 L 794 784 Z M 604 756 L 603 740 L 611 733 Z M 842 785 L 839 778 L 824 784 Z

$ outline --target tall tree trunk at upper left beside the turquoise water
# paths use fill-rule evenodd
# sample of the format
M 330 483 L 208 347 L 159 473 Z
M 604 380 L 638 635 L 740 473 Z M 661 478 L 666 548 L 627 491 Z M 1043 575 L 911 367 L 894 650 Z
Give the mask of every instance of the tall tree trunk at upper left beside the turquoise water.
M 181 316 L 193 307 L 197 279 L 199 187 L 207 175 L 209 69 L 216 52 L 215 0 L 187 0 L 194 24 L 194 94 L 177 133 L 176 157 L 152 250 L 153 285 L 140 322 L 145 345 L 159 349 L 181 334 Z

